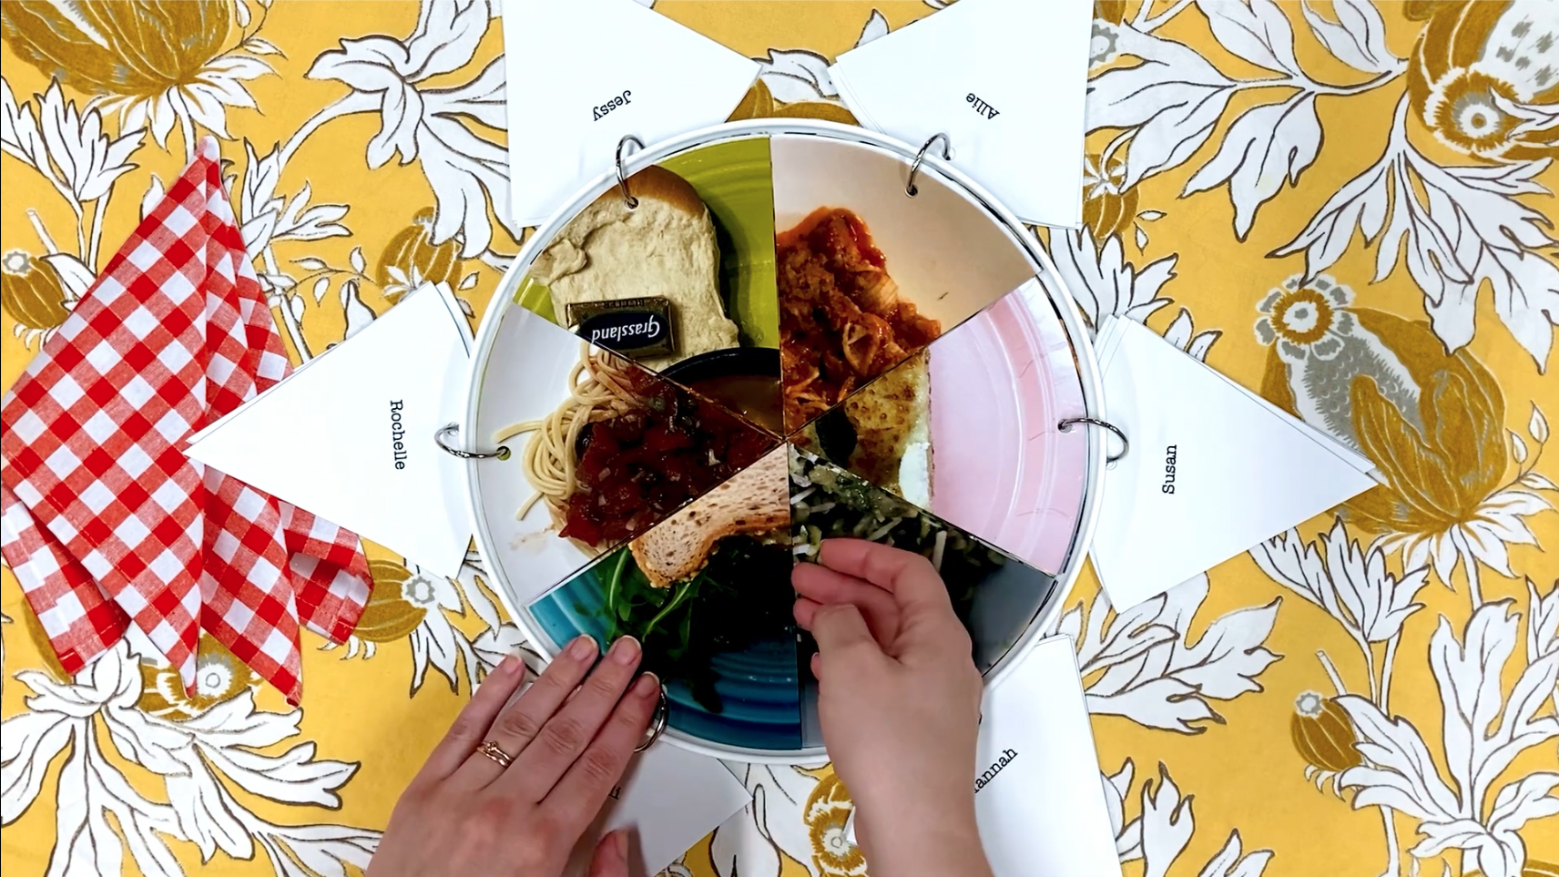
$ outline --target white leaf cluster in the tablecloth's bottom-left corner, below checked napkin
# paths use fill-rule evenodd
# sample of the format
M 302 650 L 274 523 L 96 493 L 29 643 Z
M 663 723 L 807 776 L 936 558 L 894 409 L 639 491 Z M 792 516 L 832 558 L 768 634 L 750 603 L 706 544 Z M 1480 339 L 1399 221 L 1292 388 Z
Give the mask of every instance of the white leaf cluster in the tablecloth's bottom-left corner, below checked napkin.
M 379 832 L 276 824 L 229 790 L 276 804 L 340 807 L 338 790 L 357 772 L 355 763 L 316 758 L 315 743 L 267 752 L 298 735 L 301 708 L 259 710 L 253 687 L 240 683 L 224 688 L 231 693 L 221 699 L 196 698 L 184 712 L 168 712 L 170 718 L 150 715 L 142 708 L 147 698 L 165 702 L 165 693 L 148 688 L 161 668 L 143 671 L 134 638 L 122 640 L 69 683 L 39 671 L 17 674 L 34 694 L 25 712 L 0 724 L 5 824 L 31 807 L 50 765 L 70 747 L 55 790 L 50 877 L 118 874 L 126 849 L 142 874 L 182 875 L 168 841 L 193 843 L 203 863 L 217 850 L 254 858 L 259 846 L 278 877 L 346 877 L 348 866 L 366 868 Z M 201 682 L 209 680 L 198 676 Z M 131 783 L 125 768 L 161 780 L 167 804 L 147 797 L 140 791 L 147 783 Z

